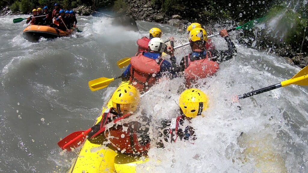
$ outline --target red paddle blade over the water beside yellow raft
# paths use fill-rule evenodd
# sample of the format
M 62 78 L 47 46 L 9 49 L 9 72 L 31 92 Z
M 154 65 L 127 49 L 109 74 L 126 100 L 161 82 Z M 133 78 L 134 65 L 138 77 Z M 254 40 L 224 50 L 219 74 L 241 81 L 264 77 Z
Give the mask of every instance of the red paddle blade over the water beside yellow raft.
M 86 136 L 91 131 L 91 128 L 87 131 L 75 131 L 58 142 L 58 145 L 63 150 L 71 151 L 71 148 L 79 147 L 81 143 L 86 139 Z

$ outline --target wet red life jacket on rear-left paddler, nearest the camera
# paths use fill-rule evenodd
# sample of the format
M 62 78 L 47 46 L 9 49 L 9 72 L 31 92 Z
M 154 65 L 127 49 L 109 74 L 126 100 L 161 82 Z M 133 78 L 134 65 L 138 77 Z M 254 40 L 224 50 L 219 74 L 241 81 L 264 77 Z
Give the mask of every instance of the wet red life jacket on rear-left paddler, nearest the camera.
M 111 108 L 112 109 L 112 108 Z M 117 125 L 116 123 L 122 119 L 128 118 L 132 114 L 125 114 L 119 118 L 116 118 L 113 122 L 113 127 L 106 129 L 106 124 L 108 124 L 108 115 L 110 114 L 111 109 L 108 112 L 103 113 L 103 117 L 100 124 L 100 130 L 97 131 L 91 138 L 95 138 L 97 135 L 104 133 L 106 139 L 109 139 L 111 145 L 119 151 L 129 154 L 144 153 L 150 148 L 150 143 L 140 144 L 138 140 L 138 131 L 141 123 L 137 121 L 124 123 L 122 125 Z M 127 127 L 127 131 L 124 130 L 124 127 Z

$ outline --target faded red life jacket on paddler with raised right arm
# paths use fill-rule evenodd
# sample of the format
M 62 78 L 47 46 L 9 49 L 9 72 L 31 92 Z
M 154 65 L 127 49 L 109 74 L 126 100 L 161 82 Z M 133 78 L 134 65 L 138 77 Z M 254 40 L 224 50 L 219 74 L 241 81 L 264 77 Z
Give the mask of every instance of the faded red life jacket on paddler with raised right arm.
M 206 78 L 212 76 L 219 69 L 217 62 L 210 61 L 212 60 L 211 52 L 206 52 L 206 57 L 204 59 L 196 59 L 193 55 L 188 54 L 184 58 L 184 76 L 186 79 L 186 85 L 190 86 L 196 80 L 200 78 Z M 199 57 L 197 57 L 199 58 Z M 196 59 L 196 60 L 194 60 Z

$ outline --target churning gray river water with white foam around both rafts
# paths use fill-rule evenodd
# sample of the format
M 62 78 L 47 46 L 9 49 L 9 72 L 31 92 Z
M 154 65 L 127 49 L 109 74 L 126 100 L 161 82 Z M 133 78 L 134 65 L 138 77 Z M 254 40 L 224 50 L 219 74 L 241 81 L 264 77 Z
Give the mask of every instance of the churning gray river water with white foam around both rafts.
M 120 82 L 91 92 L 88 81 L 119 76 L 123 70 L 115 62 L 133 56 L 136 40 L 148 35 L 150 28 L 160 27 L 163 39 L 174 35 L 176 28 L 138 21 L 141 32 L 135 33 L 111 26 L 111 18 L 78 17 L 82 33 L 31 43 L 22 38 L 25 22 L 12 22 L 18 17 L 27 16 L 0 17 L 0 172 L 66 172 L 76 154 L 61 153 L 57 142 L 91 127 Z M 187 42 L 185 34 L 175 38 L 175 45 Z M 213 42 L 226 49 L 222 38 Z M 307 88 L 287 86 L 240 103 L 230 101 L 234 95 L 291 78 L 300 68 L 266 51 L 236 46 L 237 57 L 222 63 L 217 76 L 200 88 L 210 101 L 206 116 L 192 122 L 198 139 L 194 144 L 180 141 L 164 149 L 151 148 L 150 162 L 139 172 L 147 172 L 149 165 L 150 172 L 258 172 L 256 157 L 247 156 L 245 163 L 236 159 L 243 157 L 248 145 L 238 142 L 241 132 L 249 134 L 248 141 L 266 139 L 261 148 L 270 148 L 283 160 L 272 165 L 308 172 Z M 189 47 L 177 50 L 177 60 L 188 52 Z M 181 78 L 162 80 L 142 98 L 140 110 L 157 121 L 175 117 L 176 91 L 182 83 Z

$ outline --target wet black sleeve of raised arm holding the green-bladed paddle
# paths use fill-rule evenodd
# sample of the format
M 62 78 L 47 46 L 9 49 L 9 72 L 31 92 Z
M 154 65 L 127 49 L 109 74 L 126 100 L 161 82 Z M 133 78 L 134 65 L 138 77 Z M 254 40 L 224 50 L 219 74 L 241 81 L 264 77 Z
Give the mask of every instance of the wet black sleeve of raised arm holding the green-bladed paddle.
M 225 40 L 226 40 L 227 45 L 228 45 L 228 50 L 213 50 L 213 51 L 211 51 L 213 61 L 218 62 L 218 63 L 228 61 L 229 59 L 232 59 L 235 56 L 235 54 L 237 53 L 236 47 L 235 47 L 234 43 L 231 41 L 231 39 L 229 38 L 229 36 L 226 36 Z

